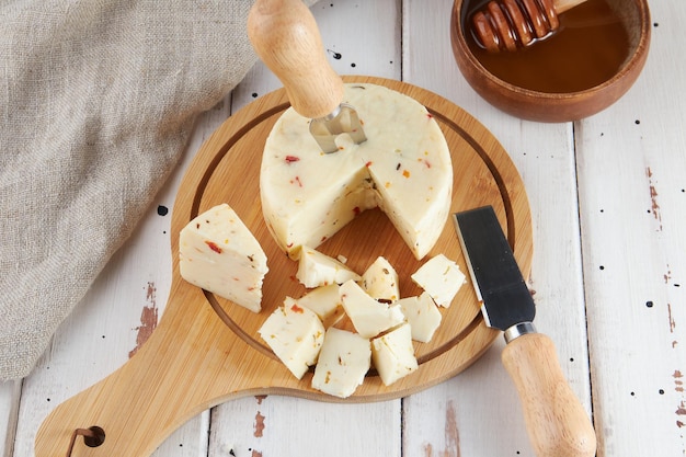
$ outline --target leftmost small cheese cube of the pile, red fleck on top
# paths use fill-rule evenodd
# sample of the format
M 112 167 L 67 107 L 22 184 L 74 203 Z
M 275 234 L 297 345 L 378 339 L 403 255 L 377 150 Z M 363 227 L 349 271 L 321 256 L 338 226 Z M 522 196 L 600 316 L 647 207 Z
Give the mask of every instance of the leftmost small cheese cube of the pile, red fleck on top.
M 297 304 L 281 306 L 259 330 L 260 336 L 298 379 L 315 365 L 324 340 L 319 317 Z

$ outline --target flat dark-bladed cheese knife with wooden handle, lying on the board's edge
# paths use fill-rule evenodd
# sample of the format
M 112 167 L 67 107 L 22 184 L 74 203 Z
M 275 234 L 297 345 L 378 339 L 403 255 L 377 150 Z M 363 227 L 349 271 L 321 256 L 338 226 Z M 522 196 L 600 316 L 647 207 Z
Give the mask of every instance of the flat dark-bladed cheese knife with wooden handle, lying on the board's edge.
M 492 206 L 454 214 L 481 312 L 504 332 L 502 362 L 519 395 L 538 457 L 592 457 L 595 431 L 569 386 L 552 340 L 537 333 L 531 294 Z

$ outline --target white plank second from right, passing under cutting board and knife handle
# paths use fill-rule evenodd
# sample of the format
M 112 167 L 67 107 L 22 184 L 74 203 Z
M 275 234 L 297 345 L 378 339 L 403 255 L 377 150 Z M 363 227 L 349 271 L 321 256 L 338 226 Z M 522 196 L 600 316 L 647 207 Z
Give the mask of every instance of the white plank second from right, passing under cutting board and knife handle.
M 591 411 L 576 178 L 571 124 L 539 124 L 504 114 L 459 73 L 450 48 L 449 0 L 405 2 L 403 79 L 475 115 L 510 152 L 523 176 L 534 222 L 530 288 L 539 331 L 556 343 L 562 370 Z M 420 31 L 423 31 L 422 33 Z M 427 52 L 431 49 L 431 52 Z M 533 456 L 515 389 L 498 341 L 456 378 L 404 402 L 407 455 Z M 432 422 L 426 422 L 427 416 Z

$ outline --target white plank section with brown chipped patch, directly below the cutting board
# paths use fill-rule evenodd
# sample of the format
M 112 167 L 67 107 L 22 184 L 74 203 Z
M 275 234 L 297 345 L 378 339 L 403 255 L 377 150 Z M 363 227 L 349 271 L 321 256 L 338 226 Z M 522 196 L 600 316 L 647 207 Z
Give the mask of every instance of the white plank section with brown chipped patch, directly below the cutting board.
M 209 457 L 401 455 L 400 401 L 333 404 L 268 396 L 229 404 L 230 411 L 214 410 Z

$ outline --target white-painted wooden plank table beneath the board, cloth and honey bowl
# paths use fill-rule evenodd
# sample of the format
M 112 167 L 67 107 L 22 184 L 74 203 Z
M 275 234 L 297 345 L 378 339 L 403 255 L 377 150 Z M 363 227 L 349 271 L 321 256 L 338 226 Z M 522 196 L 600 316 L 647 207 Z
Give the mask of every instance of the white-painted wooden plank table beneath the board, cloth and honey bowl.
M 569 124 L 519 121 L 480 99 L 453 59 L 450 8 L 451 0 L 322 0 L 312 11 L 340 73 L 445 96 L 511 155 L 531 206 L 536 324 L 592 413 L 598 456 L 686 456 L 686 2 L 651 3 L 652 46 L 638 82 L 605 112 Z M 124 364 L 153 330 L 171 281 L 171 217 L 162 209 L 171 210 L 204 139 L 279 85 L 258 65 L 202 117 L 183 163 L 35 372 L 0 384 L 2 457 L 33 456 L 52 409 Z M 500 363 L 503 344 L 400 400 L 235 400 L 190 421 L 156 456 L 533 456 Z

